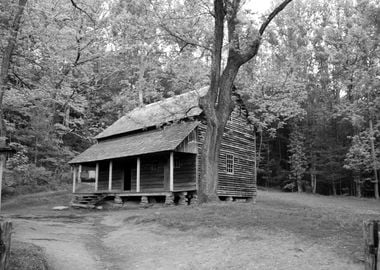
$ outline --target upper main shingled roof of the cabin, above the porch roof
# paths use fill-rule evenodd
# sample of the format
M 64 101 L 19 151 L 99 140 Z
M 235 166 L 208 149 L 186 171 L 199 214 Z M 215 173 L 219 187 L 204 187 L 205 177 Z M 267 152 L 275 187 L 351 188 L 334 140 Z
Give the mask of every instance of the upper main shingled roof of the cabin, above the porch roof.
M 138 107 L 121 117 L 95 138 L 104 139 L 148 127 L 161 126 L 171 121 L 198 116 L 202 113 L 202 109 L 199 107 L 199 98 L 205 96 L 207 91 L 208 87 L 204 87 L 196 91 L 190 91 Z

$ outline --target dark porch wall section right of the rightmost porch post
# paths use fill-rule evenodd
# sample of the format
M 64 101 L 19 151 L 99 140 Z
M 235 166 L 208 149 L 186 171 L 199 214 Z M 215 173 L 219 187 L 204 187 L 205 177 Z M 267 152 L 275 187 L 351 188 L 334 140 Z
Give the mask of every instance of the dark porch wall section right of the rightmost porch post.
M 174 168 L 174 190 L 195 190 L 196 189 L 196 155 L 174 153 L 174 160 L 179 159 L 180 168 Z

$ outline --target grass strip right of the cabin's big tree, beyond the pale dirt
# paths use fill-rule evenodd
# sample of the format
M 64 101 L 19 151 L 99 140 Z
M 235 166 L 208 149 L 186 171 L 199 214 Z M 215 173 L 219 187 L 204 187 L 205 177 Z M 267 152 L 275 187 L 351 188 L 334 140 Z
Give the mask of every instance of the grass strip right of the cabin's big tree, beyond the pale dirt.
M 247 237 L 254 236 L 252 232 L 258 230 L 267 231 L 268 234 L 291 233 L 310 243 L 335 247 L 335 252 L 354 261 L 362 260 L 362 222 L 365 219 L 378 219 L 376 213 L 358 211 L 361 208 L 353 209 L 357 205 L 355 199 L 350 202 L 352 208 L 347 208 L 342 206 L 345 206 L 348 199 L 330 199 L 334 200 L 333 203 L 325 204 L 323 197 L 294 194 L 289 199 L 292 195 L 276 195 L 268 198 L 264 195 L 256 205 L 221 202 L 199 207 L 151 209 L 137 212 L 137 216 L 127 218 L 124 222 L 158 223 L 168 229 L 184 232 L 195 232 L 201 228 L 210 231 L 218 228 L 232 229 L 243 232 Z M 305 203 L 305 198 L 315 200 L 315 204 Z M 373 204 L 372 201 L 360 203 L 368 203 L 368 208 Z

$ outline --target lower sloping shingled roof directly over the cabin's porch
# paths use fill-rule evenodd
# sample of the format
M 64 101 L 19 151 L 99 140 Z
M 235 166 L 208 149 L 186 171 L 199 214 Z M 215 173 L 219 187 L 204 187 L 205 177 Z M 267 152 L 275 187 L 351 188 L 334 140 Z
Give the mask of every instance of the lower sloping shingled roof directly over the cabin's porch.
M 199 122 L 197 121 L 181 122 L 161 129 L 100 141 L 76 156 L 69 163 L 86 163 L 172 151 L 198 124 Z

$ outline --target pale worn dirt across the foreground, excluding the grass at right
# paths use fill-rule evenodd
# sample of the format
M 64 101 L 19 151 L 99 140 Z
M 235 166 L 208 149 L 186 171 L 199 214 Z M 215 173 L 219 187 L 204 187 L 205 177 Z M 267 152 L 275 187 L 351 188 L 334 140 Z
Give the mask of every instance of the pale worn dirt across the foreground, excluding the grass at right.
M 250 209 L 247 216 L 260 217 L 260 207 L 288 200 L 279 201 L 269 193 L 261 197 L 252 208 L 233 204 L 228 209 Z M 303 207 L 291 201 L 293 210 Z M 55 270 L 362 268 L 357 260 L 335 252 L 328 240 L 305 238 L 287 228 L 223 226 L 219 221 L 198 224 L 195 219 L 194 224 L 186 221 L 187 227 L 178 226 L 184 214 L 202 219 L 207 207 L 55 212 L 44 205 L 13 208 L 5 215 L 15 224 L 15 240 L 43 247 Z M 213 207 L 223 209 L 223 205 Z

